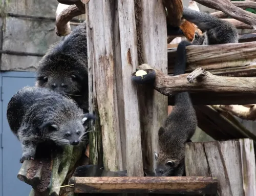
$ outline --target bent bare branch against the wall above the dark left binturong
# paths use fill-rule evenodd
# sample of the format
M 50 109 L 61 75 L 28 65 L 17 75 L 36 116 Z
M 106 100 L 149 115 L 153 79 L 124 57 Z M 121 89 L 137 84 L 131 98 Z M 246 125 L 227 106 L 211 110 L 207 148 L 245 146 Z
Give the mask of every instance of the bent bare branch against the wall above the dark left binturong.
M 85 8 L 84 11 L 81 11 L 77 8 L 76 5 L 64 5 L 58 4 L 58 8 L 56 11 L 56 26 L 55 32 L 58 36 L 66 36 L 71 33 L 70 23 L 69 21 L 76 16 L 86 13 Z

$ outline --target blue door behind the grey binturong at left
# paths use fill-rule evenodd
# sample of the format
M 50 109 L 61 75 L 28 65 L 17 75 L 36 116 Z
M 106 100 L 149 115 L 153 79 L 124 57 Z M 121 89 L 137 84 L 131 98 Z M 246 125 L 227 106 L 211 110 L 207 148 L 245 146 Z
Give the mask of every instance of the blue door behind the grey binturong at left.
M 19 181 L 17 173 L 22 164 L 19 159 L 22 156 L 20 142 L 10 130 L 6 111 L 11 97 L 24 86 L 33 86 L 35 84 L 35 73 L 33 72 L 3 72 L 1 73 L 2 90 L 2 142 L 0 158 L 0 196 L 28 196 L 31 186 Z

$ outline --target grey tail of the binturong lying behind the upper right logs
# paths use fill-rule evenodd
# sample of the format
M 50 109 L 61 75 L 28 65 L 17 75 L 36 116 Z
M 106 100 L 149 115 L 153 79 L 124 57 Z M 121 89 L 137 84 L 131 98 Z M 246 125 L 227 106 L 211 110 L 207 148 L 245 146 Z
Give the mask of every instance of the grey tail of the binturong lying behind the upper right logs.
M 208 29 L 222 26 L 227 23 L 226 21 L 211 16 L 210 14 L 195 11 L 186 7 L 183 8 L 183 18 L 196 24 L 202 31 L 207 31 Z

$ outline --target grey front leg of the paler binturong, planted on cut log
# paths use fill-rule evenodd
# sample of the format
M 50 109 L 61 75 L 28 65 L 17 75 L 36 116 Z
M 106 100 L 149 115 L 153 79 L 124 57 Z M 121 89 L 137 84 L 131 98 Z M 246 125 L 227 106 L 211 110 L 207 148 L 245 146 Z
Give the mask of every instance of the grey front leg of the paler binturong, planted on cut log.
M 23 154 L 19 162 L 23 163 L 25 160 L 33 160 L 35 158 L 36 143 L 32 141 L 22 141 Z

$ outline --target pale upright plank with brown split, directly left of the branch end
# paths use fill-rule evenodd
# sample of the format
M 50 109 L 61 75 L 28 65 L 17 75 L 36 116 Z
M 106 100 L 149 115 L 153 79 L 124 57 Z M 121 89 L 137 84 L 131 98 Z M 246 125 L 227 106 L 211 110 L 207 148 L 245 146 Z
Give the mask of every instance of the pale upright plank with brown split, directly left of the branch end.
M 124 101 L 124 119 L 122 119 L 120 123 L 123 123 L 125 128 L 127 176 L 144 176 L 139 104 L 136 84 L 131 80 L 131 73 L 135 72 L 136 67 L 138 66 L 136 45 L 137 31 L 134 6 L 134 1 L 118 0 L 121 46 L 121 62 L 119 66 L 122 68 L 122 98 Z M 166 48 L 167 47 L 165 47 L 165 49 Z M 113 157 L 111 159 L 113 159 Z

